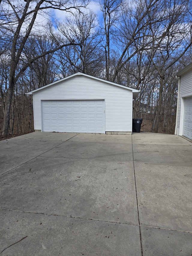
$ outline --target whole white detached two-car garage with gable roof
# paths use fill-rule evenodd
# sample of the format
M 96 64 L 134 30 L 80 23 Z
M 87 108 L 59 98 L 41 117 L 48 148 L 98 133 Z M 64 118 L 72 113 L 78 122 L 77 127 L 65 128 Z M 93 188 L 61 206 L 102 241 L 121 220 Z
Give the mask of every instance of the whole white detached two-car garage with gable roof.
M 76 73 L 27 94 L 35 131 L 131 134 L 139 91 Z

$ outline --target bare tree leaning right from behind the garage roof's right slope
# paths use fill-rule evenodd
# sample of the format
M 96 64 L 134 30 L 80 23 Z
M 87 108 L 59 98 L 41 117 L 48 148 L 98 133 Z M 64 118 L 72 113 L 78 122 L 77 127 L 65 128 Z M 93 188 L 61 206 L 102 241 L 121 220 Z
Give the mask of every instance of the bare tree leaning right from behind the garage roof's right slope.
M 134 0 L 124 2 L 119 17 L 119 26 L 114 32 L 114 43 L 117 63 L 113 72 L 113 82 L 125 65 L 132 61 L 134 56 L 149 45 L 148 20 L 151 13 L 160 4 L 161 0 Z M 151 23 L 155 22 L 154 20 Z

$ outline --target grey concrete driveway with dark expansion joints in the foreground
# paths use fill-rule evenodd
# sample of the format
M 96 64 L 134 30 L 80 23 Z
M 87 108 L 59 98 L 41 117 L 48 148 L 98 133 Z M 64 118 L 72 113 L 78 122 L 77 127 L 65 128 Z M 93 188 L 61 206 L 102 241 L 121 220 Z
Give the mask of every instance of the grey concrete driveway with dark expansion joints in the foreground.
M 26 134 L 0 141 L 0 175 L 2 256 L 192 255 L 182 137 Z

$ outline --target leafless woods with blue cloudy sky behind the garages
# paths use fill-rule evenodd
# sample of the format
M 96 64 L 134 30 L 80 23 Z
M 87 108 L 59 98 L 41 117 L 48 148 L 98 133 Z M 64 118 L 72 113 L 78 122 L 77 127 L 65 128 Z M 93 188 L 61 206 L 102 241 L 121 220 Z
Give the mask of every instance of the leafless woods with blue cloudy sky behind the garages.
M 92 3 L 93 4 L 93 3 Z M 192 60 L 190 0 L 0 1 L 0 129 L 33 130 L 26 92 L 76 72 L 140 90 L 133 118 L 174 133 L 178 81 Z M 62 22 L 54 11 L 61 11 Z

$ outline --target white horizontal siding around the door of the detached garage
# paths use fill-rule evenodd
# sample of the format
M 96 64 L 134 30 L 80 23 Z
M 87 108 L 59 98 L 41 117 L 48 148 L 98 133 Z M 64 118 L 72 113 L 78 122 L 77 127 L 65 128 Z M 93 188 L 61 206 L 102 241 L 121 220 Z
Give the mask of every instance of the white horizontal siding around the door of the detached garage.
M 42 100 L 105 100 L 105 131 L 132 131 L 133 94 L 129 89 L 76 76 L 34 92 L 34 126 L 41 130 Z

